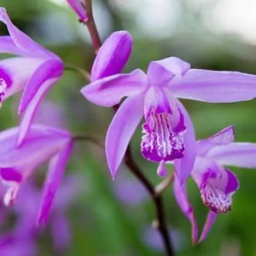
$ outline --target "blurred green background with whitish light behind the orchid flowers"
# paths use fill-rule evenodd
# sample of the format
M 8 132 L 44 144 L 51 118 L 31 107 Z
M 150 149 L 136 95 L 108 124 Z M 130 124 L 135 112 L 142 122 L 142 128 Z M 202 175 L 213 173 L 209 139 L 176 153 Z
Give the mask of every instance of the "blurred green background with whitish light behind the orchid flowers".
M 177 56 L 194 68 L 256 74 L 255 0 L 92 2 L 102 41 L 120 29 L 128 30 L 134 37 L 132 56 L 125 68 L 127 72 L 134 68 L 146 70 L 149 61 Z M 65 0 L 0 0 L 0 6 L 8 10 L 14 24 L 56 52 L 65 63 L 90 71 L 94 58 L 90 38 L 86 27 L 79 24 Z M 0 24 L 0 33 L 7 33 L 3 24 Z M 5 57 L 2 54 L 1 58 Z M 37 122 L 104 136 L 113 111 L 86 102 L 79 93 L 84 83 L 83 77 L 76 72 L 65 71 L 38 111 Z M 234 125 L 236 141 L 256 141 L 255 100 L 218 105 L 183 102 L 191 114 L 198 139 Z M 0 111 L 1 130 L 19 124 L 18 103 L 19 96 L 4 102 Z M 156 176 L 157 166 L 141 157 L 140 138 L 138 129 L 132 140 L 134 156 L 144 173 L 157 184 L 161 181 Z M 191 225 L 176 204 L 172 188 L 164 193 L 166 218 L 177 255 L 256 255 L 256 172 L 232 170 L 240 181 L 232 211 L 218 216 L 202 244 L 192 246 Z M 44 175 L 45 168 L 38 170 L 33 185 L 26 189 L 32 189 L 35 195 L 40 193 Z M 16 241 L 6 236 L 13 230 L 17 233 L 22 207 L 18 204 L 16 211 L 3 209 L 0 205 L 0 255 L 164 255 L 161 240 L 151 228 L 154 208 L 147 193 L 125 166 L 120 168 L 113 182 L 104 152 L 96 145 L 81 142 L 76 145 L 66 175 L 51 221 L 44 230 L 36 232 L 36 238 Z M 188 182 L 188 191 L 202 228 L 207 209 L 192 180 Z M 33 209 L 36 196 L 30 198 L 28 195 L 31 195 L 28 191 L 20 193 L 19 201 Z M 22 234 L 25 233 L 22 231 Z

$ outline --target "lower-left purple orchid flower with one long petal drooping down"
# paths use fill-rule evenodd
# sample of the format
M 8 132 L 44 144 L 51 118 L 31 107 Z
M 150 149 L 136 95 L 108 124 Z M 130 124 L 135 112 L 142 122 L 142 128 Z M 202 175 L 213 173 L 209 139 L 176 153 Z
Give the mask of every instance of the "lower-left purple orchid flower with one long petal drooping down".
M 0 177 L 3 184 L 10 187 L 4 196 L 4 204 L 13 204 L 20 184 L 51 159 L 38 212 L 38 223 L 44 224 L 71 154 L 72 136 L 60 129 L 33 125 L 24 143 L 17 148 L 18 132 L 19 127 L 15 127 L 0 133 Z

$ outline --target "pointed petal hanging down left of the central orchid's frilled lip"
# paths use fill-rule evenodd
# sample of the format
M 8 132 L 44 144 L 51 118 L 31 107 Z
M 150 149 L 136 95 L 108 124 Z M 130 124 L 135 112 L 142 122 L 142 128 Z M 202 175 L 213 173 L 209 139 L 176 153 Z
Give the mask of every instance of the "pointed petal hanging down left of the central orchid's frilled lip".
M 106 134 L 106 157 L 112 177 L 122 162 L 125 151 L 143 116 L 144 94 L 127 98 L 116 111 Z

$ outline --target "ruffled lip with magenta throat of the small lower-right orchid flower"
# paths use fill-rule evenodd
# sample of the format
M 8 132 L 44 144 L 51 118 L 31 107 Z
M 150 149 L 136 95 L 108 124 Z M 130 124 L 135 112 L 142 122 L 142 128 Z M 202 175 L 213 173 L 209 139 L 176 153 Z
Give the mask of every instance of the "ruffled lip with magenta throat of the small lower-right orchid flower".
M 191 173 L 204 204 L 220 214 L 230 211 L 232 195 L 239 189 L 236 175 L 207 158 L 196 157 Z

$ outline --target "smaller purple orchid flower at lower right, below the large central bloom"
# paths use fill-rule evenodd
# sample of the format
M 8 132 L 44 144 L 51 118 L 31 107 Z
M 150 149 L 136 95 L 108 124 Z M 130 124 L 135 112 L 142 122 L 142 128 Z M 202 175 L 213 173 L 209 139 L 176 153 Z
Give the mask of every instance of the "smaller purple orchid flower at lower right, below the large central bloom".
M 217 214 L 230 211 L 232 195 L 239 188 L 236 175 L 224 166 L 256 167 L 256 144 L 233 141 L 234 132 L 230 126 L 196 143 L 196 160 L 191 177 L 200 189 L 204 204 L 209 207 L 209 214 L 198 242 L 202 242 L 209 234 Z M 198 228 L 193 207 L 189 203 L 186 184 L 180 185 L 177 177 L 174 180 L 174 195 L 180 209 L 192 224 L 192 240 L 196 243 Z

